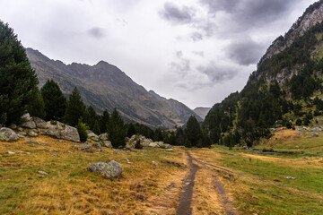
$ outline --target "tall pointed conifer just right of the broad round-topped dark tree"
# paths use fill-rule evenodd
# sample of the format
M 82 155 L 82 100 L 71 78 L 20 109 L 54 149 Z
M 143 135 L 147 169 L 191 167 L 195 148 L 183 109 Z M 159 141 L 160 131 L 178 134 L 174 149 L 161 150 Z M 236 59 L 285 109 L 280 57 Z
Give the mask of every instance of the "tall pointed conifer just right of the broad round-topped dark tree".
M 75 87 L 69 96 L 64 116 L 64 122 L 68 125 L 78 125 L 79 119 L 84 116 L 85 106 L 77 88 Z

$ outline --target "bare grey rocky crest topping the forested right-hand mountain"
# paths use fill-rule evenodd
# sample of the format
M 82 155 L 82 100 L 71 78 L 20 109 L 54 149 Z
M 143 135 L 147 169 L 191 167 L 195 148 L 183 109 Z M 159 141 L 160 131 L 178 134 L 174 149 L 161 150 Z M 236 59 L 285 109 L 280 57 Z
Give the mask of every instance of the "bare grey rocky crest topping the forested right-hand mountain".
M 276 54 L 284 51 L 286 47 L 290 47 L 294 39 L 301 37 L 307 30 L 323 21 L 323 1 L 310 5 L 310 7 L 303 13 L 303 15 L 293 23 L 292 28 L 285 34 L 280 36 L 273 44 L 268 47 L 265 56 L 259 62 L 261 64 L 266 59 L 275 56 Z

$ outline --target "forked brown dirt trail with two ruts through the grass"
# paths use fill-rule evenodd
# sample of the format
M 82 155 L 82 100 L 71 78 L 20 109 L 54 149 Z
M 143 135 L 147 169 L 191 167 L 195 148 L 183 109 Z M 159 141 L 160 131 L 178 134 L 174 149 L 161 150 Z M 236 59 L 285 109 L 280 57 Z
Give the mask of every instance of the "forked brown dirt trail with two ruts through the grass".
M 231 206 L 231 201 L 225 191 L 225 188 L 219 178 L 215 175 L 214 171 L 207 167 L 207 163 L 202 162 L 196 158 L 193 158 L 192 155 L 188 153 L 188 164 L 190 167 L 190 171 L 188 174 L 188 177 L 185 180 L 185 184 L 182 190 L 182 193 L 179 196 L 179 207 L 176 211 L 177 215 L 192 215 L 192 208 L 191 208 L 191 203 L 192 203 L 192 196 L 193 196 L 193 187 L 194 187 L 194 180 L 196 177 L 196 172 L 199 169 L 199 167 L 193 163 L 193 160 L 198 162 L 199 164 L 202 165 L 203 168 L 207 168 L 212 171 L 212 176 L 214 177 L 214 184 L 218 190 L 218 193 L 220 195 L 220 199 L 222 200 L 223 203 L 223 209 L 225 214 L 227 215 L 235 215 L 236 212 L 232 210 Z M 211 165 L 213 166 L 213 165 Z M 220 168 L 220 167 L 216 167 Z M 223 169 L 224 170 L 224 169 Z M 227 169 L 225 169 L 227 170 Z M 231 172 L 230 170 L 227 170 Z

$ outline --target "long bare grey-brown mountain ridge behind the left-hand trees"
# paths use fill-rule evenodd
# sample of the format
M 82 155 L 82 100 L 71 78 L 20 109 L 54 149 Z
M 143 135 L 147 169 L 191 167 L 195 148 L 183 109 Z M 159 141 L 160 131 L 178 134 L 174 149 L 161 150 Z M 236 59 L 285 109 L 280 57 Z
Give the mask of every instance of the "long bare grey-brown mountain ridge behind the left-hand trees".
M 39 87 L 53 79 L 67 96 L 76 86 L 84 103 L 94 107 L 98 113 L 105 108 L 111 112 L 117 107 L 127 122 L 164 128 L 184 125 L 189 116 L 202 121 L 179 101 L 148 92 L 115 65 L 104 61 L 95 65 L 64 64 L 32 48 L 26 48 L 26 53 L 38 75 Z

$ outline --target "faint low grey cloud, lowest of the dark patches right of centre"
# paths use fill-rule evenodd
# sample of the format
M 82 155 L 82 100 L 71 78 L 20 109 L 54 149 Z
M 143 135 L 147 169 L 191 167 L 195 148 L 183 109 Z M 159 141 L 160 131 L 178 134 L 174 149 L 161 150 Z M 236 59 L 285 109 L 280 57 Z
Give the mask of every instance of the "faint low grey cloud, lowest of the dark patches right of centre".
M 205 73 L 213 83 L 231 80 L 237 74 L 236 69 L 218 65 L 214 61 L 210 61 L 206 65 L 199 65 L 196 69 L 200 73 Z

